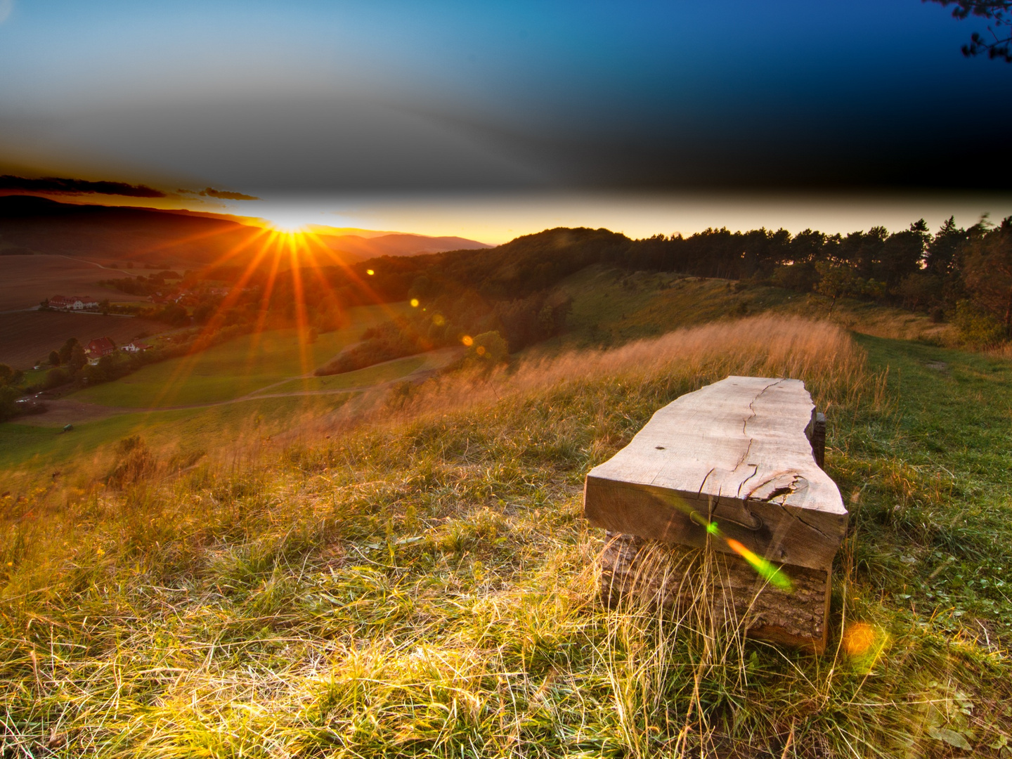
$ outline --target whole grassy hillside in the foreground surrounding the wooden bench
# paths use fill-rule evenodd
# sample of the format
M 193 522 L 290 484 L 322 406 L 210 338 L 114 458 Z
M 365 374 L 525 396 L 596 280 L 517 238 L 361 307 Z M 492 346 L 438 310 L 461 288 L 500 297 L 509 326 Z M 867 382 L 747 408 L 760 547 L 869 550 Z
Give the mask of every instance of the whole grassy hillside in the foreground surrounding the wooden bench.
M 584 475 L 729 373 L 827 411 L 823 656 L 597 601 Z M 6 496 L 0 752 L 1012 754 L 1006 360 L 760 316 L 361 398 L 174 478 L 148 440 L 108 487 Z

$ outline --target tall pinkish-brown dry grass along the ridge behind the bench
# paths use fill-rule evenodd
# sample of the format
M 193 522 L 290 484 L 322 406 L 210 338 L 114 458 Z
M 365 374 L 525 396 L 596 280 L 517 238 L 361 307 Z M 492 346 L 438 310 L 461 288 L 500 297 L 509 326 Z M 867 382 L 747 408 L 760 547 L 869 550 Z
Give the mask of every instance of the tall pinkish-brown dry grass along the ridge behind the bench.
M 514 366 L 458 372 L 392 398 L 388 390 L 364 394 L 323 420 L 305 419 L 289 434 L 312 438 L 333 428 L 370 423 L 405 423 L 499 403 L 508 398 L 599 380 L 646 382 L 659 376 L 693 377 L 694 387 L 729 374 L 805 378 L 816 404 L 828 409 L 838 399 L 871 408 L 886 403 L 884 382 L 865 370 L 863 351 L 846 329 L 829 321 L 762 315 L 686 327 L 618 348 L 532 353 Z M 694 389 L 694 388 L 693 388 Z

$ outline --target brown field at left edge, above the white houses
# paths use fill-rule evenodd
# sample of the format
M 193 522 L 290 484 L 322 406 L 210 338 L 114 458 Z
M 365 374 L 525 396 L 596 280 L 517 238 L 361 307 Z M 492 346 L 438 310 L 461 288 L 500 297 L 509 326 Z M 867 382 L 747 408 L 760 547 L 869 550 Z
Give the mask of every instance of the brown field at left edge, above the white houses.
M 30 309 L 56 294 L 92 296 L 97 301 L 146 301 L 95 282 L 128 274 L 150 274 L 101 266 L 81 258 L 60 255 L 0 256 L 0 312 Z

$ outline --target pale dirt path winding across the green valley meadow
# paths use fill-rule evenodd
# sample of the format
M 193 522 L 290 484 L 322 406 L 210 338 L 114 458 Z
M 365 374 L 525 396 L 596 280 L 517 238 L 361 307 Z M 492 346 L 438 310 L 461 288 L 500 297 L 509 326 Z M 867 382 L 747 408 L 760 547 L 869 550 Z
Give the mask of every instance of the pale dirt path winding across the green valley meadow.
M 22 416 L 17 417 L 13 420 L 15 424 L 26 424 L 32 427 L 62 427 L 65 424 L 80 424 L 82 422 L 93 422 L 99 419 L 106 419 L 110 416 L 118 416 L 120 414 L 150 414 L 152 412 L 158 411 L 185 411 L 186 409 L 209 409 L 216 406 L 230 406 L 236 403 L 245 403 L 247 401 L 259 401 L 266 398 L 299 398 L 304 396 L 336 396 L 347 393 L 362 393 L 367 390 L 375 390 L 378 388 L 385 388 L 388 386 L 395 385 L 397 383 L 410 382 L 410 383 L 420 383 L 427 380 L 430 376 L 438 373 L 443 365 L 449 363 L 452 358 L 459 353 L 457 348 L 441 348 L 439 350 L 429 351 L 428 353 L 420 353 L 418 355 L 433 357 L 438 356 L 440 359 L 440 365 L 430 368 L 418 368 L 412 371 L 410 374 L 405 374 L 404 376 L 397 377 L 395 380 L 388 380 L 387 382 L 376 383 L 375 385 L 362 385 L 353 388 L 335 388 L 333 390 L 302 390 L 292 391 L 289 393 L 264 393 L 265 390 L 270 388 L 275 388 L 278 385 L 284 385 L 285 383 L 290 383 L 292 380 L 307 380 L 312 378 L 313 374 L 303 374 L 300 376 L 289 376 L 281 380 L 277 383 L 272 383 L 271 385 L 259 388 L 251 393 L 247 393 L 239 398 L 230 398 L 227 401 L 215 401 L 213 403 L 200 403 L 191 404 L 186 406 L 159 406 L 157 408 L 148 408 L 136 406 L 101 406 L 96 403 L 83 403 L 81 401 L 75 401 L 70 398 L 66 399 L 56 399 L 53 401 L 46 401 L 46 406 L 48 410 L 45 414 L 36 414 L 32 416 Z M 391 361 L 384 361 L 383 363 L 393 363 L 394 361 L 400 361 L 401 358 L 395 358 Z M 376 363 L 373 366 L 382 366 L 383 364 Z M 368 367 L 368 368 L 371 368 Z

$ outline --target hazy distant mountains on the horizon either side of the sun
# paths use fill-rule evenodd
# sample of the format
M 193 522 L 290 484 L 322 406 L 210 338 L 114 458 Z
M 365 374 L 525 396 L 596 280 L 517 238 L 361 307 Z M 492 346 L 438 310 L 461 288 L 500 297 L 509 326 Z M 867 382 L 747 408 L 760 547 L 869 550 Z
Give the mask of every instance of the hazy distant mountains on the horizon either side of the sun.
M 314 226 L 313 238 L 346 263 L 492 246 L 461 237 Z M 349 234 L 352 233 L 352 234 Z M 264 237 L 262 220 L 216 214 L 61 203 L 31 195 L 0 197 L 0 254 L 39 253 L 102 263 L 243 265 Z M 334 263 L 331 261 L 330 263 Z

